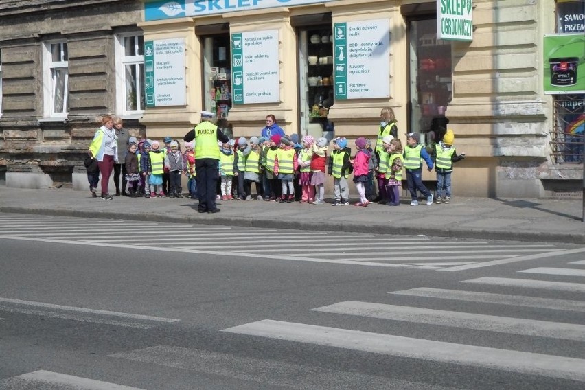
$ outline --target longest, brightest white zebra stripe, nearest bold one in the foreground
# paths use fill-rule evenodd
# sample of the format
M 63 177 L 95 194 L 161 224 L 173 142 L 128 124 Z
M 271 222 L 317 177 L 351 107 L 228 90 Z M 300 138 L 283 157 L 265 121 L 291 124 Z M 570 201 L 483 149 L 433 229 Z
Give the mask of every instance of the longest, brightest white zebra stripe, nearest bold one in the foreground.
M 404 358 L 431 360 L 440 363 L 468 365 L 482 369 L 501 369 L 522 374 L 585 381 L 585 370 L 583 369 L 585 360 L 564 356 L 412 339 L 390 334 L 273 320 L 247 323 L 225 329 L 223 332 L 374 352 Z

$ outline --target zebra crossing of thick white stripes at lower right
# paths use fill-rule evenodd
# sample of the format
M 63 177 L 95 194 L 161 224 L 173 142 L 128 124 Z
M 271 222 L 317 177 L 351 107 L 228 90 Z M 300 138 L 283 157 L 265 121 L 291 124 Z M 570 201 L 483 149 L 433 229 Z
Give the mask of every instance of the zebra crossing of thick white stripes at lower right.
M 582 266 L 584 262 L 571 262 L 572 266 Z M 547 273 L 547 270 L 549 271 Z M 523 275 L 527 270 L 517 271 Z M 585 271 L 575 268 L 575 271 Z M 538 275 L 558 278 L 555 268 L 539 268 Z M 565 275 L 568 273 L 561 273 Z M 585 382 L 585 284 L 558 280 L 520 279 L 506 277 L 480 277 L 461 280 L 461 289 L 444 288 L 412 288 L 388 292 L 387 302 L 340 301 L 326 306 L 313 308 L 310 311 L 323 316 L 352 316 L 366 319 L 387 321 L 388 329 L 400 329 L 399 323 L 427 325 L 435 329 L 428 331 L 426 337 L 411 337 L 404 334 L 377 333 L 360 329 L 341 328 L 319 325 L 326 321 L 315 317 L 316 324 L 295 323 L 279 319 L 262 319 L 251 323 L 226 328 L 222 332 L 253 336 L 253 340 L 274 339 L 302 345 L 319 345 L 339 349 L 368 352 L 393 356 L 395 358 L 413 358 L 431 363 L 447 363 L 475 369 L 507 371 L 513 374 L 525 374 Z M 479 290 L 474 290 L 477 286 Z M 503 288 L 516 291 L 506 294 Z M 540 291 L 539 297 L 532 292 Z M 575 299 L 558 299 L 543 297 L 547 293 L 572 292 Z M 402 299 L 398 299 L 402 297 Z M 409 299 L 413 306 L 406 306 L 404 298 Z M 459 310 L 440 310 L 435 308 L 437 300 L 446 302 L 445 306 Z M 475 303 L 473 312 L 467 311 L 468 306 L 455 306 L 454 302 L 466 301 Z M 428 307 L 431 306 L 431 307 Z M 503 308 L 501 312 L 514 312 L 514 315 L 482 314 L 479 311 L 492 312 L 490 308 Z M 522 316 L 525 311 L 519 308 L 534 308 L 529 315 Z M 567 315 L 573 321 L 544 321 L 530 318 L 545 312 L 556 312 Z M 517 313 L 517 314 L 516 314 Z M 556 318 L 556 317 L 554 317 Z M 575 321 L 576 320 L 576 321 Z M 386 328 L 386 327 L 384 327 Z M 443 334 L 450 329 L 449 341 L 437 339 L 435 335 Z M 480 344 L 470 343 L 457 337 L 457 329 L 481 332 L 483 341 Z M 404 333 L 404 332 L 402 332 Z M 509 343 L 509 347 L 490 347 L 485 344 L 490 339 L 501 338 L 501 334 L 523 337 L 525 344 Z M 433 337 L 435 336 L 435 337 Z M 472 338 L 472 341 L 476 338 Z M 479 336 L 477 336 L 479 340 Z M 549 352 L 547 347 L 538 348 L 538 343 L 547 344 L 547 339 L 561 342 L 577 343 L 575 350 L 566 352 L 566 356 L 558 350 Z M 466 342 L 463 342 L 466 341 Z M 495 344 L 497 344 L 494 341 Z M 580 346 L 579 346 L 580 345 Z M 576 356 L 575 356 L 576 355 Z M 582 388 L 583 384 L 575 387 Z M 511 388 L 511 387 L 501 387 Z M 557 387 L 559 388 L 559 387 Z M 565 388 L 565 387 L 562 387 Z

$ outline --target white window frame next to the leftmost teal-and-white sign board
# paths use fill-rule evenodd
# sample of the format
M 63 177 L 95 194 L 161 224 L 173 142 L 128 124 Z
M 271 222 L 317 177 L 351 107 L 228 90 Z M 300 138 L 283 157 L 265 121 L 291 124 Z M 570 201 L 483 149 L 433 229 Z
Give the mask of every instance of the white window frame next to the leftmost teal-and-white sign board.
M 136 37 L 136 44 L 139 43 L 142 38 L 141 50 L 143 54 L 135 56 L 126 56 L 124 45 L 124 39 L 130 36 Z M 137 45 L 138 47 L 138 45 Z M 136 76 L 136 91 L 137 91 L 137 109 L 128 110 L 127 108 L 127 96 L 126 96 L 126 65 L 137 65 L 137 76 Z M 115 35 L 115 78 L 116 78 L 116 113 L 120 117 L 141 117 L 146 108 L 146 102 L 144 103 L 145 108 L 139 108 L 141 100 L 144 101 L 144 78 L 143 74 L 140 73 L 139 69 L 142 65 L 144 69 L 144 34 L 142 32 L 124 32 Z M 142 98 L 142 99 L 141 99 Z

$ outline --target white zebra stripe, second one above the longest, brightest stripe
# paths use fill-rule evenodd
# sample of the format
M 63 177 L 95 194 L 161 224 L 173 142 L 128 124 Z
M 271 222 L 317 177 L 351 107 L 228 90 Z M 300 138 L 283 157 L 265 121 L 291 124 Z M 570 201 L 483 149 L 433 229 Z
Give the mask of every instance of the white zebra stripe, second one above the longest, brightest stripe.
M 566 310 L 571 312 L 585 312 L 585 301 L 569 301 L 567 299 L 525 297 L 523 295 L 494 294 L 491 292 L 474 292 L 461 290 L 446 290 L 444 288 L 411 288 L 410 290 L 391 291 L 389 294 L 409 295 L 412 297 L 426 297 L 437 299 L 454 299 L 456 301 L 470 301 L 493 303 L 496 305 L 525 306 L 527 308 L 542 308 L 551 310 Z

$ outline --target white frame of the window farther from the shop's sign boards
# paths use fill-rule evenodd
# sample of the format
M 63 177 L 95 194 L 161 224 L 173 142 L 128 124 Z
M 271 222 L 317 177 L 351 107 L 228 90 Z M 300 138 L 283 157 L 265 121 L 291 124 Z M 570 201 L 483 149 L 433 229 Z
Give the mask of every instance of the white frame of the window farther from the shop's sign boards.
M 65 45 L 67 40 L 60 39 L 54 41 L 45 41 L 43 43 L 43 115 L 48 118 L 66 118 L 69 115 L 69 48 L 67 50 L 60 47 L 60 61 L 53 60 L 53 45 Z M 67 52 L 67 58 L 64 60 L 64 53 Z M 55 92 L 56 77 L 54 69 L 65 69 L 63 111 L 55 112 Z

